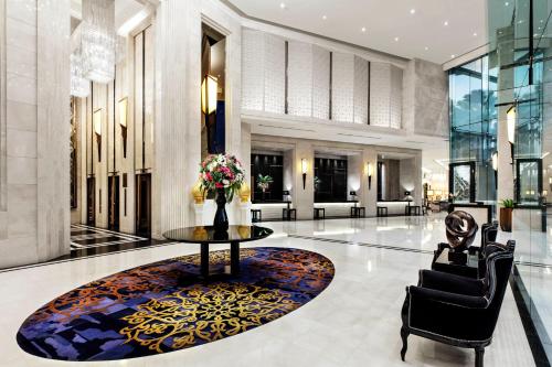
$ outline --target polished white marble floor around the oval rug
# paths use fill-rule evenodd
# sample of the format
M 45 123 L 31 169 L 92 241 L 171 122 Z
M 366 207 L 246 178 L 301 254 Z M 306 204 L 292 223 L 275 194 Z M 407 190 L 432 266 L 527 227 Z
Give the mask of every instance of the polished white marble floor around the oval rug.
M 416 336 L 410 338 L 406 363 L 399 354 L 404 289 L 417 281 L 418 269 L 429 266 L 435 245 L 445 239 L 443 219 L 443 215 L 435 215 L 265 223 L 275 234 L 244 247 L 304 248 L 333 261 L 335 280 L 317 299 L 275 322 L 223 341 L 160 356 L 89 365 L 470 366 L 471 350 Z M 25 354 L 14 338 L 23 320 L 45 302 L 130 267 L 195 252 L 199 248 L 194 245 L 163 244 L 1 272 L 0 365 L 60 365 Z M 510 290 L 485 358 L 486 366 L 534 366 Z

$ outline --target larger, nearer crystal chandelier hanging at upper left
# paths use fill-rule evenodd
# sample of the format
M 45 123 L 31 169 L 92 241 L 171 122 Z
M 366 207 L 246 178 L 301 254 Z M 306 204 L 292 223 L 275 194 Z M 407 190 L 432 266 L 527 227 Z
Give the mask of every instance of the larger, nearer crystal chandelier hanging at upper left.
M 82 60 L 85 77 L 96 83 L 115 78 L 115 0 L 83 0 Z

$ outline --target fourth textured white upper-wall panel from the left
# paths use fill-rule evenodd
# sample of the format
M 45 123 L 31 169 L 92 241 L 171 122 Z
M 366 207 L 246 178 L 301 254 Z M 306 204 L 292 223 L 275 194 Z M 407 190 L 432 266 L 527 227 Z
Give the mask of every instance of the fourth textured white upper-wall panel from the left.
M 329 119 L 330 52 L 312 46 L 312 117 Z

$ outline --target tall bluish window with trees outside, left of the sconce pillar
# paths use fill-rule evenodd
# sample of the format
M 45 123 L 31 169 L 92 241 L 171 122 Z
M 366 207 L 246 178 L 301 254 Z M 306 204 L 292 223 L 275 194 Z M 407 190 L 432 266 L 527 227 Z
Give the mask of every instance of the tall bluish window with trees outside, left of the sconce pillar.
M 497 199 L 491 162 L 497 150 L 495 58 L 491 53 L 449 71 L 449 193 L 456 203 L 493 205 Z

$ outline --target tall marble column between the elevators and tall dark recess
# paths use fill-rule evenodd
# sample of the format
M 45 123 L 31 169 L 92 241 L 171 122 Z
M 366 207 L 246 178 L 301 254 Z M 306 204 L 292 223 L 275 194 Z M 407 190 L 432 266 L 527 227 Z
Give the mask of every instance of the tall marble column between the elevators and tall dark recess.
M 193 226 L 191 190 L 201 160 L 201 17 L 195 1 L 157 9 L 152 236 Z

